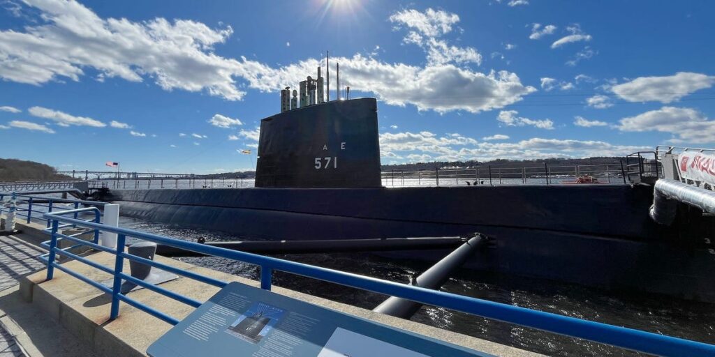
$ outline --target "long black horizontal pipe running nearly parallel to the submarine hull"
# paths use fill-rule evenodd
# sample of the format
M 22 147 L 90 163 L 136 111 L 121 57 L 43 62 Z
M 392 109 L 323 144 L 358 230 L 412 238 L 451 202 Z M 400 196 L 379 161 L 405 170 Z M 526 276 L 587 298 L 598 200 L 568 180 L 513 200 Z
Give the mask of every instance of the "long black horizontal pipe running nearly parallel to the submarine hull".
M 317 241 L 218 241 L 199 243 L 220 248 L 245 251 L 258 254 L 295 254 L 295 253 L 339 253 L 356 251 L 415 251 L 433 249 L 452 249 L 464 243 L 461 237 L 427 238 L 370 238 L 370 239 L 335 239 Z M 160 256 L 204 256 L 202 253 L 187 251 L 173 246 L 157 245 Z

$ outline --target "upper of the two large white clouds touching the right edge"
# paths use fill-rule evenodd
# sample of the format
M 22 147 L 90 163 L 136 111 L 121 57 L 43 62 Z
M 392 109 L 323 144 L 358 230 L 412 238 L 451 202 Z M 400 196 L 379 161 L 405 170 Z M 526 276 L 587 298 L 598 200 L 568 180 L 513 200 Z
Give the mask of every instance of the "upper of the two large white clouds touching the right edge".
M 660 101 L 670 103 L 715 84 L 715 76 L 678 72 L 673 76 L 639 77 L 611 87 L 611 91 L 626 101 Z

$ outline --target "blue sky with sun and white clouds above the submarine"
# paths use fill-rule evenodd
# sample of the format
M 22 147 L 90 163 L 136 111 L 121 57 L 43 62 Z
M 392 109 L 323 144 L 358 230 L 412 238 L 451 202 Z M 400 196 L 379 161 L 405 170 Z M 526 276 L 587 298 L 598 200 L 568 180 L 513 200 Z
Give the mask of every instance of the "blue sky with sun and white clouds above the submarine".
M 383 164 L 715 146 L 711 1 L 167 4 L 0 0 L 0 156 L 252 169 L 326 50 L 379 100 Z

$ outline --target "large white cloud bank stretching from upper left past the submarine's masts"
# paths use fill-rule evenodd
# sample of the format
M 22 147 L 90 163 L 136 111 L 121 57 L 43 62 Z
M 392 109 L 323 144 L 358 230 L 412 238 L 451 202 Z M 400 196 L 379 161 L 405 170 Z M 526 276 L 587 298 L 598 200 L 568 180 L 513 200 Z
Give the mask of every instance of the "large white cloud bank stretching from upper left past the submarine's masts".
M 244 83 L 237 81 L 245 81 L 248 89 L 275 92 L 305 79 L 320 63 L 311 58 L 272 68 L 243 56 L 217 56 L 213 46 L 225 43 L 232 34 L 230 27 L 210 29 L 195 21 L 161 18 L 102 19 L 76 2 L 47 0 L 31 6 L 41 11 L 44 24 L 26 27 L 24 32 L 0 31 L 0 78 L 8 81 L 36 85 L 62 77 L 79 81 L 84 69 L 94 69 L 101 78 L 152 79 L 165 90 L 207 91 L 239 100 L 245 92 L 239 89 Z M 335 58 L 353 91 L 373 94 L 390 105 L 411 104 L 440 113 L 499 109 L 536 91 L 508 71 L 483 74 L 455 66 L 480 61 L 474 49 L 450 46 L 438 38 L 452 31 L 457 15 L 428 9 L 393 16 L 394 24 L 420 37 L 421 42 L 415 43 L 423 44 L 428 64 L 386 63 L 360 54 Z

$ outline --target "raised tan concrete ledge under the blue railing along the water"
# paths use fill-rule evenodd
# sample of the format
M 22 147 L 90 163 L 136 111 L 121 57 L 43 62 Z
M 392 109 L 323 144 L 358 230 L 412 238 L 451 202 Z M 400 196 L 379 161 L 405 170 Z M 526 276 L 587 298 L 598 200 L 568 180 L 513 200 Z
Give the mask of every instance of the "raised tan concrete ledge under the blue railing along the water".
M 114 255 L 109 253 L 94 253 L 89 256 L 89 259 L 109 268 L 114 267 Z M 208 268 L 192 266 L 170 258 L 157 256 L 155 260 L 223 281 L 239 281 L 250 286 L 259 286 L 257 281 L 213 271 Z M 129 263 L 127 260 L 125 260 L 124 264 L 124 270 L 128 271 Z M 64 263 L 63 266 L 94 281 L 104 281 L 111 277 L 107 273 L 98 271 L 78 261 L 69 261 Z M 82 338 L 85 343 L 92 346 L 98 356 L 146 356 L 149 345 L 172 327 L 169 323 L 129 306 L 127 303 L 121 304 L 119 317 L 114 321 L 109 321 L 110 296 L 59 270 L 55 271 L 55 276 L 51 281 L 45 281 L 45 277 L 46 271 L 39 271 L 22 278 L 20 291 L 23 298 L 46 311 L 49 318 L 59 321 L 61 326 L 67 328 L 75 336 Z M 215 286 L 209 286 L 184 277 L 164 283 L 162 287 L 199 301 L 206 301 L 219 290 Z M 433 328 L 393 316 L 385 316 L 363 308 L 317 298 L 278 286 L 274 286 L 272 291 L 314 303 L 318 306 L 368 318 L 497 356 L 538 356 L 536 353 L 519 350 L 518 348 L 503 346 L 498 343 Z M 133 291 L 129 293 L 129 296 L 152 308 L 157 308 L 159 311 L 169 313 L 174 318 L 184 318 L 194 311 L 191 306 L 184 305 L 147 289 Z

